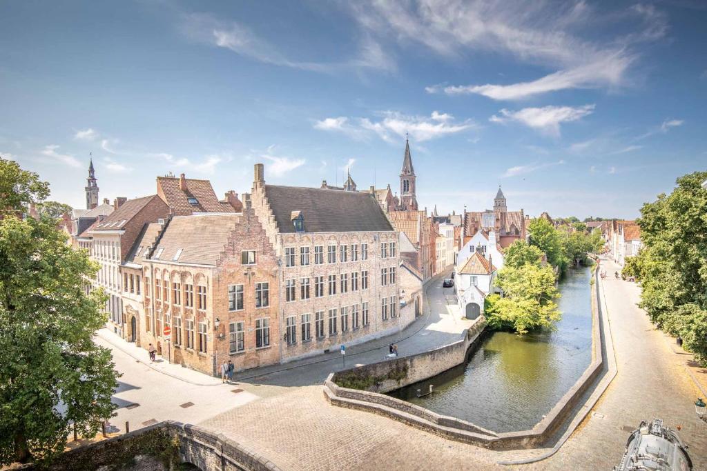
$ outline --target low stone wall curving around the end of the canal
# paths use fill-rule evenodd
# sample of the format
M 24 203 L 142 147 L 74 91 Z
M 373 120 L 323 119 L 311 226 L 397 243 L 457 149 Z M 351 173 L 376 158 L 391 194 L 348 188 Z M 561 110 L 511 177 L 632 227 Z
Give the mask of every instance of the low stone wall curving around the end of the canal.
M 410 357 L 407 362 L 404 362 L 406 359 L 401 358 L 331 374 L 325 381 L 325 398 L 333 405 L 338 405 L 339 407 L 366 410 L 384 415 L 409 424 L 411 427 L 445 436 L 448 439 L 474 443 L 477 446 L 486 448 L 534 448 L 547 443 L 562 424 L 566 423 L 568 417 L 571 417 L 575 407 L 580 405 L 585 397 L 585 393 L 597 384 L 604 371 L 607 352 L 605 351 L 604 330 L 600 318 L 600 294 L 599 283 L 596 281 L 597 273 L 598 268 L 595 269 L 595 283 L 593 285 L 595 291 L 592 296 L 592 363 L 544 419 L 535 424 L 530 430 L 496 434 L 493 431 L 477 427 L 470 422 L 465 422 L 455 417 L 438 415 L 423 407 L 380 393 L 416 383 L 448 369 L 446 367 L 452 363 L 452 359 L 455 358 L 455 354 L 462 345 L 469 345 L 469 338 L 474 337 L 471 330 L 479 326 L 480 323 L 474 324 L 469 329 L 463 342 L 455 342 L 431 352 L 415 355 Z M 480 330 L 483 330 L 483 327 L 479 328 Z M 428 362 L 427 359 L 436 359 L 439 364 Z M 401 363 L 402 361 L 403 363 Z M 404 374 L 402 374 L 403 370 Z M 428 373 L 428 375 L 421 377 L 425 373 Z M 351 386 L 366 386 L 367 383 L 370 384 L 366 388 L 352 389 L 342 387 L 339 383 Z

